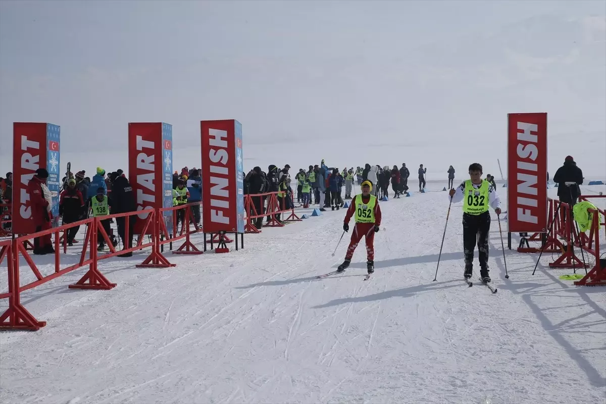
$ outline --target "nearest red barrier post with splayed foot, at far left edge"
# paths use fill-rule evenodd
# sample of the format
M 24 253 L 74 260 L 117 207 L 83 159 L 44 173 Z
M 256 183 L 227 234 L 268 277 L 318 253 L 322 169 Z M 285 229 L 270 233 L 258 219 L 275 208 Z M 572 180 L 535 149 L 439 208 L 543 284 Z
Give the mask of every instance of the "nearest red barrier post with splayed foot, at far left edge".
M 13 243 L 14 246 L 14 243 Z M 38 321 L 27 309 L 21 305 L 19 292 L 19 257 L 13 248 L 8 248 L 8 309 L 0 316 L 0 329 L 22 329 L 38 331 L 46 325 L 45 321 Z

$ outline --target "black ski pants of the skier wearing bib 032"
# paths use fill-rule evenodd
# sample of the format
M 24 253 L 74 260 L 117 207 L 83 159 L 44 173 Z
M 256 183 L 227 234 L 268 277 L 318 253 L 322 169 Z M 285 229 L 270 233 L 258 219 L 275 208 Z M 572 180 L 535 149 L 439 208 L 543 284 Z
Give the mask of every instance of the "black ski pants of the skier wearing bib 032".
M 463 252 L 466 267 L 473 265 L 473 251 L 477 243 L 480 268 L 488 269 L 488 233 L 490 233 L 490 212 L 463 214 Z

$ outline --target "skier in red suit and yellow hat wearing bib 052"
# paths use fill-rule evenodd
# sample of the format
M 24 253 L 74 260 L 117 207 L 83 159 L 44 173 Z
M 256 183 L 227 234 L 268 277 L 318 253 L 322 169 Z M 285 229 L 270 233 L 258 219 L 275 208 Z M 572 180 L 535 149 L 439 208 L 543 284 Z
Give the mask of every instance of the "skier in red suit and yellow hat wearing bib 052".
M 366 254 L 368 274 L 375 272 L 375 233 L 379 231 L 381 225 L 381 208 L 379 208 L 379 200 L 376 196 L 371 195 L 372 185 L 370 181 L 366 180 L 362 182 L 362 194 L 356 195 L 351 200 L 351 205 L 347 209 L 345 214 L 345 220 L 343 223 L 343 230 L 349 231 L 349 220 L 351 216 L 354 216 L 356 225 L 351 233 L 351 241 L 349 247 L 347 247 L 347 253 L 345 254 L 344 262 L 339 265 L 338 272 L 345 271 L 345 268 L 349 267 L 351 263 L 351 257 L 353 252 L 356 251 L 358 243 L 365 237 L 366 241 Z

